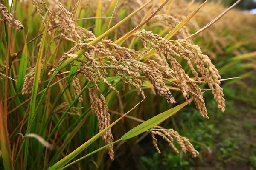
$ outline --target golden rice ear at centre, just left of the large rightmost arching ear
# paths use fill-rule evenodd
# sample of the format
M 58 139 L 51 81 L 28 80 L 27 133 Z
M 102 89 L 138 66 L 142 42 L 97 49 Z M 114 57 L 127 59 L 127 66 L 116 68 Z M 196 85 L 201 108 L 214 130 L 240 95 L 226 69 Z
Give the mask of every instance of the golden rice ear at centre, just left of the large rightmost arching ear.
M 139 62 L 134 59 L 134 57 L 138 57 L 136 51 L 113 44 L 111 40 L 102 41 L 113 52 L 113 56 L 118 59 L 118 61 L 114 60 L 114 70 L 118 70 L 120 73 L 122 73 L 119 74 L 122 77 L 125 77 L 124 74 L 131 75 L 133 77 L 132 82 L 127 78 L 125 79 L 128 84 L 136 84 L 134 87 L 137 89 L 138 94 L 141 94 L 143 96 L 143 99 L 145 99 L 145 94 L 141 88 L 141 82 L 138 79 L 138 76 L 140 76 L 139 72 L 141 72 L 149 79 L 154 88 L 157 89 L 158 94 L 162 97 L 165 97 L 167 102 L 176 103 L 175 99 L 172 97 L 171 92 L 166 87 L 163 81 L 163 76 L 161 72 L 155 67 L 154 63 Z M 135 70 L 139 70 L 139 72 Z

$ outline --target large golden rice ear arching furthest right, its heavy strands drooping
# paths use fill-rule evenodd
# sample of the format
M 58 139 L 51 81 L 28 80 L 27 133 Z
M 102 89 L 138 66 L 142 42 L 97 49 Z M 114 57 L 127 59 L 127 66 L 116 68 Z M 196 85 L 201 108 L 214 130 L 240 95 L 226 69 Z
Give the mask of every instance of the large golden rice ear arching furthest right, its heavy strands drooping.
M 215 65 L 212 64 L 209 57 L 202 54 L 200 47 L 198 47 L 197 45 L 191 45 L 187 40 L 183 39 L 168 41 L 157 34 L 153 34 L 151 31 L 142 30 L 135 33 L 134 36 L 139 37 L 144 42 L 152 45 L 156 49 L 157 53 L 162 57 L 164 64 L 167 68 L 169 68 L 167 60 L 170 62 L 174 74 L 179 81 L 179 87 L 181 89 L 181 92 L 186 100 L 189 98 L 189 88 L 191 88 L 192 90 L 196 90 L 199 88 L 197 88 L 197 85 L 195 84 L 192 85 L 192 80 L 185 73 L 182 66 L 179 62 L 177 62 L 175 58 L 181 57 L 185 59 L 187 61 L 187 65 L 200 83 L 201 80 L 198 77 L 198 73 L 195 71 L 192 64 L 196 65 L 202 77 L 205 79 L 206 82 L 208 82 L 209 88 L 212 90 L 212 94 L 214 94 L 214 99 L 216 100 L 216 102 L 218 102 L 218 108 L 220 108 L 221 111 L 224 112 L 225 99 L 223 89 L 220 87 L 219 81 L 219 79 L 221 79 L 221 76 L 219 75 L 218 70 L 215 68 Z M 206 67 L 204 65 L 206 65 Z M 169 73 L 167 72 L 167 76 L 168 75 Z M 189 81 L 189 83 L 191 84 L 190 87 L 186 84 L 186 81 Z M 200 97 L 202 97 L 202 94 L 198 93 L 199 90 L 196 90 L 195 92 Z M 199 102 L 198 99 L 198 102 L 196 103 L 198 103 L 198 108 L 199 106 L 204 106 L 204 108 L 200 111 L 201 115 L 207 118 L 207 112 L 203 100 Z

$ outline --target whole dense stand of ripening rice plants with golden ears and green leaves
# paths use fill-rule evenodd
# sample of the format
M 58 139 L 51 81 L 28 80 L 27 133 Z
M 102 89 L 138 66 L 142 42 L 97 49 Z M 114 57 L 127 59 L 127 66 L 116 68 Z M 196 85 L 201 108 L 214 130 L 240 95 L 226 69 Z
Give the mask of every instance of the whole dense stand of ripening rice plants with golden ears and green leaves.
M 2 0 L 0 166 L 86 169 L 90 157 L 104 167 L 105 152 L 111 161 L 118 153 L 115 143 L 143 132 L 151 133 L 158 153 L 156 135 L 175 153 L 174 141 L 183 153 L 198 156 L 186 137 L 159 124 L 192 102 L 209 119 L 205 90 L 224 112 L 221 74 L 212 58 L 238 54 L 249 45 L 232 46 L 242 40 L 228 36 L 230 24 L 221 28 L 225 38 L 218 39 L 207 24 L 222 15 L 202 17 L 205 4 Z M 156 110 L 155 103 L 164 109 Z M 133 121 L 147 121 L 125 120 L 130 112 Z

